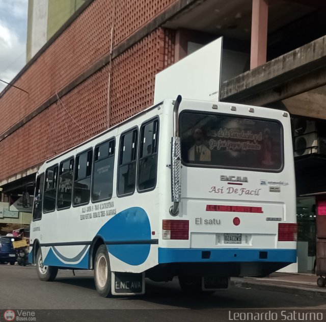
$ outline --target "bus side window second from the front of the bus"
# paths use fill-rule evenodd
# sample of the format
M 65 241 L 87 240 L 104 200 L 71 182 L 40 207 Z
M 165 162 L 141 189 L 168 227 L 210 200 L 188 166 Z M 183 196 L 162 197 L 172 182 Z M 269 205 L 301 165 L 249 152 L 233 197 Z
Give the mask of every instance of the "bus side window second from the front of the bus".
M 50 212 L 56 209 L 57 183 L 58 166 L 48 168 L 45 171 L 43 212 Z

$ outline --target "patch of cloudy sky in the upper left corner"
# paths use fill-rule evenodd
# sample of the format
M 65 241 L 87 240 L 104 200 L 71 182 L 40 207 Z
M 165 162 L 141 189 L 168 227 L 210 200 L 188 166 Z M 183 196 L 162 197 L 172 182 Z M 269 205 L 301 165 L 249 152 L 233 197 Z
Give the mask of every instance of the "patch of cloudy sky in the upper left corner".
M 0 79 L 8 83 L 26 63 L 27 14 L 28 0 L 0 0 Z

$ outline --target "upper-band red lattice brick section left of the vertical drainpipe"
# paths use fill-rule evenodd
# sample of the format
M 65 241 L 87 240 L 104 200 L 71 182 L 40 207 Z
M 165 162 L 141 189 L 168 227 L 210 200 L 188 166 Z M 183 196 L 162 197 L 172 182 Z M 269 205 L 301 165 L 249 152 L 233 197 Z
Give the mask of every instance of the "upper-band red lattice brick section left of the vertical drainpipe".
M 15 85 L 29 95 L 14 88 L 5 93 L 0 99 L 0 133 L 62 89 L 110 49 L 112 2 L 96 0 L 91 3 L 26 70 Z

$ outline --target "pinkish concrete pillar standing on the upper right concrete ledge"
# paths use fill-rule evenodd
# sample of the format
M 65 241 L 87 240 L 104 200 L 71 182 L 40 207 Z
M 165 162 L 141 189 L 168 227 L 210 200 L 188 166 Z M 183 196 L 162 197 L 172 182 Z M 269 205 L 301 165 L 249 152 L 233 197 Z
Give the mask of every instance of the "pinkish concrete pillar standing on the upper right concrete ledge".
M 250 69 L 266 63 L 268 0 L 253 0 Z

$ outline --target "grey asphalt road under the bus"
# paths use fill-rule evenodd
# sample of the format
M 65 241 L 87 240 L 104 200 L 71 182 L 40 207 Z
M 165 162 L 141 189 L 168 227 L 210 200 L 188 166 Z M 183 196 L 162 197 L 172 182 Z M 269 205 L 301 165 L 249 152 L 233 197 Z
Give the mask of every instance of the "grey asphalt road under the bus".
M 237 312 L 248 309 L 254 312 L 259 309 L 283 309 L 287 312 L 313 309 L 323 312 L 326 309 L 324 299 L 251 288 L 230 287 L 215 292 L 213 296 L 187 296 L 181 292 L 176 280 L 169 283 L 146 281 L 144 296 L 105 299 L 95 290 L 92 271 L 76 271 L 75 274 L 59 271 L 56 281 L 42 282 L 35 267 L 0 265 L 0 320 L 4 320 L 6 309 L 16 312 L 19 309 L 40 310 L 36 311 L 38 322 L 89 321 L 107 315 L 111 316 L 111 321 L 181 322 L 198 321 L 204 316 L 205 321 L 220 322 L 232 318 L 229 309 L 237 309 Z M 323 320 L 326 320 L 326 311 L 323 315 Z M 278 317 L 282 320 L 281 316 Z

